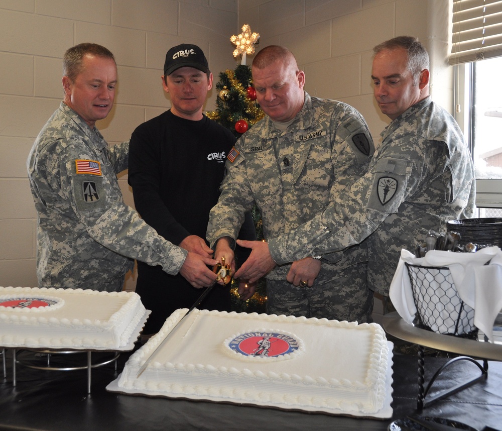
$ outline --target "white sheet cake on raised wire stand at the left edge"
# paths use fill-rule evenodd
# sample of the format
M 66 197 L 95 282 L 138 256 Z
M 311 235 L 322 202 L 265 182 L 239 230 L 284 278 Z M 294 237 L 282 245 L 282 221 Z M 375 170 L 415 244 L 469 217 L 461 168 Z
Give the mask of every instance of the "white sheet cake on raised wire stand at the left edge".
M 0 287 L 0 346 L 119 350 L 146 312 L 134 292 Z

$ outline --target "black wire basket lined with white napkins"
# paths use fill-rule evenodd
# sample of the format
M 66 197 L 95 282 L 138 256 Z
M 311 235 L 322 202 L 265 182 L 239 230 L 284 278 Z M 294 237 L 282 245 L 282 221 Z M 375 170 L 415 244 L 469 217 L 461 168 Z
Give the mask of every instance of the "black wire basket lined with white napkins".
M 474 309 L 458 296 L 449 268 L 405 265 L 417 307 L 415 326 L 438 334 L 477 339 Z

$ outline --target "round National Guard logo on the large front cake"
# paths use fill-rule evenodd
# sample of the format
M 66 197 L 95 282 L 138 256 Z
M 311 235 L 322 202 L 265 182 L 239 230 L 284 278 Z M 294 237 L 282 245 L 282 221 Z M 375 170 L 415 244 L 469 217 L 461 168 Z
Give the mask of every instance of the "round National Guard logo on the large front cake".
M 292 334 L 257 331 L 232 337 L 228 347 L 246 357 L 286 359 L 298 351 L 300 343 Z

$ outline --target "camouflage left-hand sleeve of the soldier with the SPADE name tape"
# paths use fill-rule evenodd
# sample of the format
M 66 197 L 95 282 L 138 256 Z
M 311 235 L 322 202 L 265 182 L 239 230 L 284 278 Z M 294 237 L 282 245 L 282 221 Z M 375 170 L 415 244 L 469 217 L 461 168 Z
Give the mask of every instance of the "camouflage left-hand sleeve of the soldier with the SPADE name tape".
M 240 140 L 229 153 L 233 162 L 228 159 L 226 161 L 221 194 L 209 212 L 206 237 L 213 249 L 219 238 L 230 237 L 233 240 L 237 238 L 244 222 L 245 212 L 253 207 L 253 193 L 247 180 L 245 159 L 239 151 L 239 143 Z

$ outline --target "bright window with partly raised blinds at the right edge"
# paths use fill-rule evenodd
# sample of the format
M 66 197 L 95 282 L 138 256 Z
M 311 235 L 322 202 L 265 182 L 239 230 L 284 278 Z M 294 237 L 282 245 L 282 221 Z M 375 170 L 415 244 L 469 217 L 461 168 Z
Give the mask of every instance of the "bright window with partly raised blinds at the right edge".
M 479 217 L 502 217 L 502 0 L 453 0 L 455 119 L 472 151 Z M 488 212 L 487 212 L 488 211 Z

